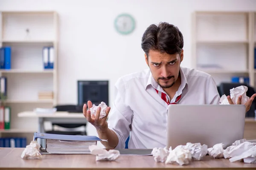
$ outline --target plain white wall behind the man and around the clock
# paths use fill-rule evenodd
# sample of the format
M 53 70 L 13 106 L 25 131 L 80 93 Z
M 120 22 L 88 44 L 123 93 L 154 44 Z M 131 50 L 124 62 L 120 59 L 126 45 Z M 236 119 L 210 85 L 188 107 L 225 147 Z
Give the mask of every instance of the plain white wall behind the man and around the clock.
M 169 22 L 184 37 L 182 66 L 191 67 L 193 11 L 256 11 L 256 0 L 0 0 L 0 11 L 53 10 L 59 14 L 58 103 L 77 103 L 78 79 L 108 79 L 110 103 L 116 80 L 147 68 L 140 47 L 145 29 Z M 120 13 L 136 20 L 135 31 L 118 34 L 113 26 Z

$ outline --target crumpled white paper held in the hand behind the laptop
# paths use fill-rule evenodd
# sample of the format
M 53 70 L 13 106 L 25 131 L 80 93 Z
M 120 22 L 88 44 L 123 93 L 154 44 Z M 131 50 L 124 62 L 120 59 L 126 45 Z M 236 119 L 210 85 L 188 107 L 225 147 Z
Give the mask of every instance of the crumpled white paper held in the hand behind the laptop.
M 230 89 L 230 98 L 232 99 L 233 103 L 236 104 L 239 96 L 242 96 L 241 104 L 244 105 L 247 100 L 250 99 L 248 96 L 246 96 L 247 90 L 248 88 L 244 85 Z M 229 105 L 227 96 L 225 94 L 221 96 L 219 102 L 220 105 Z

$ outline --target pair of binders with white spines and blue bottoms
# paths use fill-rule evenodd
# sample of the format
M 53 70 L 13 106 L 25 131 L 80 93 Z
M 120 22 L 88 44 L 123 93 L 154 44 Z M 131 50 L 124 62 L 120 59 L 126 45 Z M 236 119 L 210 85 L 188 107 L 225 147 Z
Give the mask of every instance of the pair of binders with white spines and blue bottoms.
M 53 69 L 54 68 L 54 48 L 53 47 L 44 47 L 43 48 L 43 62 L 44 69 Z

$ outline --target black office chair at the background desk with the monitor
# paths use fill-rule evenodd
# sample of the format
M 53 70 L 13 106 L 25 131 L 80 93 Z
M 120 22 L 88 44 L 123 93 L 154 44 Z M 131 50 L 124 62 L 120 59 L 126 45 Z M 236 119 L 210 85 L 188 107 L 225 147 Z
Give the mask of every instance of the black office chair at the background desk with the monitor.
M 55 106 L 57 108 L 57 111 L 67 111 L 67 112 L 76 112 L 80 111 L 80 106 L 77 105 L 57 105 Z M 78 131 L 78 130 L 73 130 L 72 128 L 76 127 L 86 127 L 86 123 L 84 124 L 69 124 L 69 123 L 55 123 L 52 122 L 52 127 L 54 126 L 59 126 L 59 127 L 64 127 L 67 130 L 62 131 L 62 130 L 50 130 L 46 131 L 46 133 L 52 133 L 52 134 L 62 134 L 62 135 L 87 135 L 86 130 L 84 131 Z

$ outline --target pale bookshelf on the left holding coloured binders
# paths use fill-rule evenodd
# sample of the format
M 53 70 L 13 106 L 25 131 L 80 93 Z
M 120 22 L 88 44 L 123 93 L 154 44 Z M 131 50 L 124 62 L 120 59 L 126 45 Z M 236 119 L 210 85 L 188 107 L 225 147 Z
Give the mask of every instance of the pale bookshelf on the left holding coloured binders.
M 18 113 L 52 108 L 58 95 L 58 14 L 55 11 L 0 11 L 0 47 L 10 46 L 11 69 L 0 69 L 7 78 L 6 106 L 11 108 L 10 129 L 0 137 L 26 136 L 38 130 L 38 119 L 20 118 Z M 54 68 L 44 69 L 43 47 L 54 48 Z M 51 91 L 52 99 L 38 93 Z

